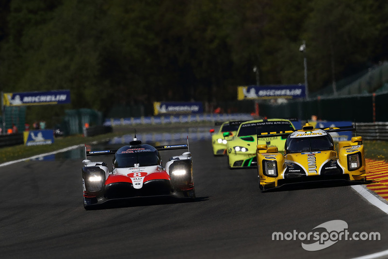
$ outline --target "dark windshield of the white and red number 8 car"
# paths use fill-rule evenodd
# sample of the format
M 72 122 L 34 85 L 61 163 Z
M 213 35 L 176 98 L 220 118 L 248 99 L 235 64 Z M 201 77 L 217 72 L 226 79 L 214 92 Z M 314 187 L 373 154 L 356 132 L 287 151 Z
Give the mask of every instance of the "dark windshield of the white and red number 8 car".
M 153 166 L 160 164 L 160 156 L 157 150 L 147 148 L 119 149 L 114 156 L 113 164 L 115 168 L 140 166 Z

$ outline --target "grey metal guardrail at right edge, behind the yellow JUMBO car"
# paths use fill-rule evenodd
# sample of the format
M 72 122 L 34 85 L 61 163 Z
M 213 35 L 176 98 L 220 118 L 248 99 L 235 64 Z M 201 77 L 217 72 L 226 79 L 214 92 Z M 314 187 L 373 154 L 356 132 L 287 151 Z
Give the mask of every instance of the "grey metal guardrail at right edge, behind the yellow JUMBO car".
M 356 130 L 365 140 L 388 140 L 388 122 L 356 123 Z

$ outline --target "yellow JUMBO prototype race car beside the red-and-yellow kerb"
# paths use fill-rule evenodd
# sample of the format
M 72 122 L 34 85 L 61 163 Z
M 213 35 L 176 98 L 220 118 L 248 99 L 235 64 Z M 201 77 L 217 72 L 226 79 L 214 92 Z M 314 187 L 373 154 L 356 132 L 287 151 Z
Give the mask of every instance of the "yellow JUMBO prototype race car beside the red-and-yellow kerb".
M 284 155 L 277 147 L 257 145 L 260 190 L 307 181 L 366 181 L 362 137 L 339 141 L 337 152 L 329 133 L 339 131 L 355 131 L 355 128 L 314 128 L 306 123 L 301 130 L 258 135 L 258 138 L 288 136 Z

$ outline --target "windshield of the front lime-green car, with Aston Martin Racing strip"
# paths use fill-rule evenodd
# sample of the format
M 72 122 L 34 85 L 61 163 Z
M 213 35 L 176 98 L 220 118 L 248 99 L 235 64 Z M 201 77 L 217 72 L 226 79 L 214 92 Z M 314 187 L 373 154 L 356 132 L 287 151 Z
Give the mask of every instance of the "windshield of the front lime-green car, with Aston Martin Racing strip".
M 238 137 L 257 135 L 264 132 L 293 130 L 290 121 L 261 121 L 241 124 Z

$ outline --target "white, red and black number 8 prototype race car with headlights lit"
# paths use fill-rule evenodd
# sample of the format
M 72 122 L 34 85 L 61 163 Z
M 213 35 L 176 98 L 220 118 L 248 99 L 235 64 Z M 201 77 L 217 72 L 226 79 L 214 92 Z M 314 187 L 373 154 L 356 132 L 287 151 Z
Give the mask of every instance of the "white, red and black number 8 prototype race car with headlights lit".
M 86 147 L 85 147 L 86 149 Z M 193 162 L 190 152 L 172 156 L 163 166 L 159 151 L 187 149 L 188 144 L 151 146 L 136 136 L 118 150 L 86 151 L 90 155 L 113 155 L 112 171 L 104 162 L 82 161 L 85 209 L 109 200 L 172 195 L 195 198 Z

